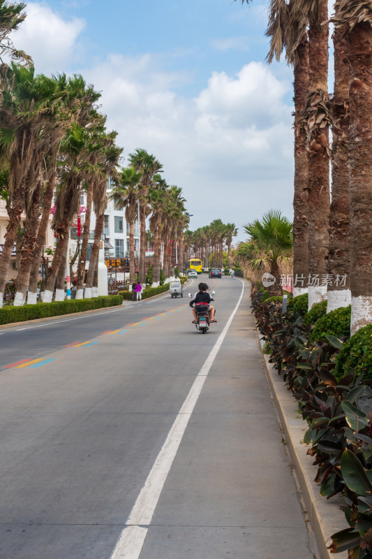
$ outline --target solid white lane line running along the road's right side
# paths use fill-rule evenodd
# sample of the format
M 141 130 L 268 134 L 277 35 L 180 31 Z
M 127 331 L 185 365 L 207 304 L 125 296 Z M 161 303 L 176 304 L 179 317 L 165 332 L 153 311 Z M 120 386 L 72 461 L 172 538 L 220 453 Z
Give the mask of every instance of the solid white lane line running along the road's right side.
M 158 504 L 161 492 L 163 491 L 165 480 L 167 479 L 173 460 L 177 454 L 179 445 L 181 444 L 188 421 L 193 413 L 195 404 L 198 401 L 204 382 L 207 379 L 209 370 L 211 369 L 211 365 L 214 363 L 223 340 L 225 339 L 225 335 L 228 333 L 232 319 L 235 317 L 241 303 L 241 299 L 243 298 L 244 282 L 241 279 L 239 279 L 239 281 L 243 287 L 241 289 L 241 295 L 237 305 L 232 311 L 232 314 L 230 314 L 230 318 L 228 319 L 225 328 L 223 328 L 223 331 L 218 336 L 218 340 L 211 349 L 211 352 L 200 369 L 198 377 L 196 377 L 184 404 L 179 410 L 177 418 L 174 420 L 163 448 L 158 453 L 158 457 L 156 458 L 155 463 L 151 468 L 151 472 L 149 473 L 149 476 L 147 477 L 147 480 L 137 497 L 131 514 L 128 516 L 128 520 L 126 521 L 126 525 L 128 527 L 124 528 L 121 532 L 117 545 L 112 552 L 111 559 L 138 559 L 140 557 L 148 530 L 148 528 L 144 528 L 144 526 L 149 526 L 151 523 L 156 505 Z

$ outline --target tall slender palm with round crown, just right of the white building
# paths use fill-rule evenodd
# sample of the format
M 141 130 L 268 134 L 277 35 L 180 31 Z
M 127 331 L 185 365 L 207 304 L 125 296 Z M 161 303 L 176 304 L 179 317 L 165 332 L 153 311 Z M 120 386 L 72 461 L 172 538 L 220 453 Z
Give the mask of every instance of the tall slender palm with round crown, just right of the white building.
M 140 182 L 140 263 L 139 278 L 144 283 L 146 274 L 144 271 L 144 252 L 146 250 L 146 217 L 148 208 L 148 195 L 151 183 L 154 186 L 153 177 L 161 172 L 163 166 L 154 155 L 147 153 L 146 150 L 135 150 L 129 155 L 129 163 L 137 172 L 142 173 Z

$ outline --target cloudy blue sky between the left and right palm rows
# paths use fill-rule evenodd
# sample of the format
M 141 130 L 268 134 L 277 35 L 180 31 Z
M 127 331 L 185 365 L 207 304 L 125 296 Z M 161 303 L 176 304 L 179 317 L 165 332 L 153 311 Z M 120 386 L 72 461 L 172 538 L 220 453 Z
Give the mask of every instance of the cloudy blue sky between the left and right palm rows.
M 124 156 L 158 157 L 192 229 L 216 218 L 241 228 L 271 208 L 292 216 L 292 71 L 265 64 L 266 5 L 28 2 L 13 40 L 38 71 L 82 73 L 102 91 Z

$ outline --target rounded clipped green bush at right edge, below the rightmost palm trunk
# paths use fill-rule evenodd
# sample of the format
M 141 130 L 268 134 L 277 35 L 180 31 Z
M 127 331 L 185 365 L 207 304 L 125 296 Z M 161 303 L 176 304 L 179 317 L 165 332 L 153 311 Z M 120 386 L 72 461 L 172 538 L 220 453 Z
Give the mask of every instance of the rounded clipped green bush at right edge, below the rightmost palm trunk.
M 336 379 L 352 372 L 355 377 L 363 375 L 364 379 L 372 379 L 372 324 L 355 332 L 336 357 Z

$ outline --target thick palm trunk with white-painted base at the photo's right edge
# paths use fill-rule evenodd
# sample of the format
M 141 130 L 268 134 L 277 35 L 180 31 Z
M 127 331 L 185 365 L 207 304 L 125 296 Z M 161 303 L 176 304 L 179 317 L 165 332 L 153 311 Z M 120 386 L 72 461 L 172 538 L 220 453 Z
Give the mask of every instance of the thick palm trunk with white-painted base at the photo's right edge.
M 372 322 L 372 28 L 348 34 L 351 333 Z

